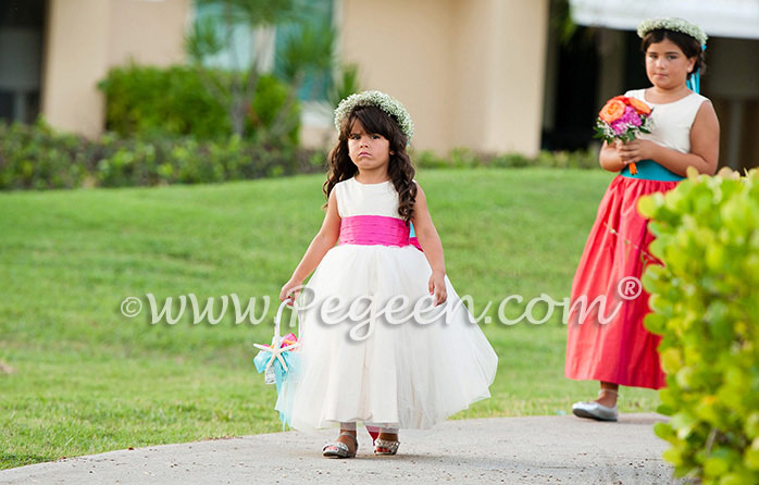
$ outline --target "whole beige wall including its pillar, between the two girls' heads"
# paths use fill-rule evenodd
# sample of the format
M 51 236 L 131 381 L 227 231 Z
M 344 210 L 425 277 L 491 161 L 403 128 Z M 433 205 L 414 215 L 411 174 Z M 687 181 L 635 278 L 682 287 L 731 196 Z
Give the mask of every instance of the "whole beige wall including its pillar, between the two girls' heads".
M 416 149 L 539 149 L 548 0 L 343 0 L 343 59 L 399 98 Z

